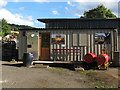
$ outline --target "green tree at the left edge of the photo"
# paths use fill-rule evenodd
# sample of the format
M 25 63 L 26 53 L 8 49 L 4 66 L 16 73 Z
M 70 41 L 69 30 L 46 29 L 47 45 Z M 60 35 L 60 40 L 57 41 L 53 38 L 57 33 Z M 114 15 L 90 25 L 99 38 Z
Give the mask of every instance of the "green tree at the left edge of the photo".
M 11 27 L 8 25 L 5 19 L 2 19 L 2 37 L 9 33 L 11 33 Z

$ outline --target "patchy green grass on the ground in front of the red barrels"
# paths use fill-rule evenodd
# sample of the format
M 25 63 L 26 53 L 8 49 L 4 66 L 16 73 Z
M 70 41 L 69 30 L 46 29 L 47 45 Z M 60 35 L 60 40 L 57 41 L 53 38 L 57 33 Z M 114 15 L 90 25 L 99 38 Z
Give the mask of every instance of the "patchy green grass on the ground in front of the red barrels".
M 93 82 L 93 85 L 90 85 L 90 88 L 101 88 L 101 89 L 115 89 L 117 88 L 116 85 L 106 85 L 106 80 L 103 80 L 101 77 L 101 74 L 99 75 L 98 72 L 102 73 L 101 71 L 95 71 L 95 70 L 85 70 L 85 71 L 75 71 L 77 73 L 80 73 L 82 75 L 86 75 L 90 82 Z M 103 75 L 102 75 L 103 77 Z

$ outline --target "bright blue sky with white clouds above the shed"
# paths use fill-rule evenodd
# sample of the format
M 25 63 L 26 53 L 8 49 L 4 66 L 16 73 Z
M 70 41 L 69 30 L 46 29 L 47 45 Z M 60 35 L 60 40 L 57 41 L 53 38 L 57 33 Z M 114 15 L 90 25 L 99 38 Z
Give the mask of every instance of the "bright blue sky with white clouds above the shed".
M 44 27 L 37 19 L 79 18 L 97 5 L 103 4 L 118 16 L 119 0 L 0 0 L 0 19 L 8 23 Z

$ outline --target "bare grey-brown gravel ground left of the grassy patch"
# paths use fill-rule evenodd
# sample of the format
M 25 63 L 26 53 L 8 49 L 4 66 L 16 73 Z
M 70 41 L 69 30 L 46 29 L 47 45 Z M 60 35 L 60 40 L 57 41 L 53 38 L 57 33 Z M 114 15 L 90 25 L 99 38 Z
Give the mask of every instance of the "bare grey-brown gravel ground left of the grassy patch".
M 73 71 L 47 68 L 2 66 L 3 88 L 85 88 L 84 75 Z M 74 76 L 75 75 L 75 76 Z M 73 77 L 74 76 L 74 77 Z

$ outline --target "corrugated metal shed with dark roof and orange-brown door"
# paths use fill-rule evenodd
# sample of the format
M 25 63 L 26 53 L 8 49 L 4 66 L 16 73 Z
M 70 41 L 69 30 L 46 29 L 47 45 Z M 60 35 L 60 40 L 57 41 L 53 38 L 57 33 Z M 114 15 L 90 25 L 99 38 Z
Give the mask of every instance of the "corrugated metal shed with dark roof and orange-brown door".
M 19 59 L 23 53 L 34 60 L 83 61 L 87 53 L 106 53 L 114 60 L 120 51 L 120 19 L 38 19 L 41 29 L 19 30 Z M 119 40 L 118 40 L 119 38 Z

